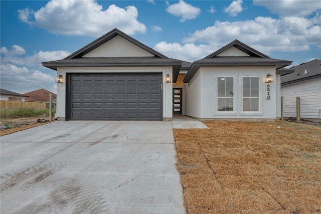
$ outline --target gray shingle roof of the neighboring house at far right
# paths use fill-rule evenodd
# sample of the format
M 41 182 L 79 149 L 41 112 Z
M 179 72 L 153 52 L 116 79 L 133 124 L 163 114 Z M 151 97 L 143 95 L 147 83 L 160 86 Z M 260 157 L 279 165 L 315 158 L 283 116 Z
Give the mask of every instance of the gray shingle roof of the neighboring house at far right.
M 294 70 L 294 73 L 282 76 L 281 85 L 321 77 L 321 60 L 312 60 L 290 69 Z M 306 72 L 304 70 L 306 70 Z

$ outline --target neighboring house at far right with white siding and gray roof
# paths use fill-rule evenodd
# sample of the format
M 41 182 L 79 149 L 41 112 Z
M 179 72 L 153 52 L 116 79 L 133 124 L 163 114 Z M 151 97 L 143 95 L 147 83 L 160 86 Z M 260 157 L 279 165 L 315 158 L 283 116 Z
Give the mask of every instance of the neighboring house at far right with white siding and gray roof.
M 296 117 L 296 97 L 300 97 L 300 117 L 317 119 L 321 110 L 321 60 L 291 69 L 294 73 L 281 77 L 284 117 Z

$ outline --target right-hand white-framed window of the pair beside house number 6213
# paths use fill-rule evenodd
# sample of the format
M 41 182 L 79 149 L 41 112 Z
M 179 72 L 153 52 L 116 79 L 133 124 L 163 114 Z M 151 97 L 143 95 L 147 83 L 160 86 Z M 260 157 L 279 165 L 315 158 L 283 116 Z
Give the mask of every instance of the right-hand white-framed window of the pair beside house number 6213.
M 243 112 L 259 111 L 259 77 L 242 78 Z

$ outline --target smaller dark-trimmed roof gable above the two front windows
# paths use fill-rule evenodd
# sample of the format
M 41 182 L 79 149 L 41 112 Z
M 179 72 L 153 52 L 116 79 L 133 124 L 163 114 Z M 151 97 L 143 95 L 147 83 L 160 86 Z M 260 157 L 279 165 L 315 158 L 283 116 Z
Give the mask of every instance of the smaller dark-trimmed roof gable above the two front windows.
M 224 52 L 226 53 L 226 51 L 228 51 L 228 49 L 230 49 L 231 47 L 234 47 L 235 49 L 238 49 L 239 51 L 241 51 L 241 52 L 243 52 L 243 53 L 245 53 L 245 54 L 247 54 L 248 56 L 251 56 L 251 57 L 269 58 L 265 54 L 262 54 L 261 52 L 256 51 L 255 49 L 245 45 L 244 43 L 241 43 L 238 40 L 234 40 L 230 44 L 224 46 L 223 48 L 220 48 L 216 52 L 214 52 L 214 53 L 208 55 L 207 57 L 205 57 L 204 59 L 210 59 L 210 58 L 213 58 L 213 57 L 219 57 L 219 55 L 224 54 Z M 240 54 L 240 52 L 238 52 L 238 54 Z M 240 56 L 240 55 L 237 55 L 237 56 Z M 236 56 L 234 56 L 234 57 L 236 57 Z

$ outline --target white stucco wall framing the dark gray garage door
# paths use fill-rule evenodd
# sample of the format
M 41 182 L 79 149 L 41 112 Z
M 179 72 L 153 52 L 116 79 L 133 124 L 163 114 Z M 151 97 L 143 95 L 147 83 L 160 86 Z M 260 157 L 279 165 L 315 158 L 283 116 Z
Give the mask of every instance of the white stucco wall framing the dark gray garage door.
M 172 83 L 166 83 L 166 75 L 173 76 L 172 67 L 111 67 L 111 68 L 58 68 L 57 75 L 63 76 L 63 83 L 57 83 L 57 117 L 59 120 L 66 119 L 66 90 L 68 73 L 162 73 L 163 74 L 163 118 L 173 118 L 172 109 Z

